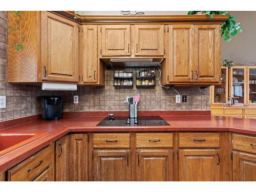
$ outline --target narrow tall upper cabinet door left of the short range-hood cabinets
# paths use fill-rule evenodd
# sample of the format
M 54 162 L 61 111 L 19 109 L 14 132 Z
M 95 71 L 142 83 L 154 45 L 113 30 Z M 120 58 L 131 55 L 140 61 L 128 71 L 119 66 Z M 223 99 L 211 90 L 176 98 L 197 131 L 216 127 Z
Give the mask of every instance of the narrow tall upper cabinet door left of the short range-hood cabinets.
M 98 38 L 96 25 L 82 26 L 81 60 L 82 81 L 98 82 Z

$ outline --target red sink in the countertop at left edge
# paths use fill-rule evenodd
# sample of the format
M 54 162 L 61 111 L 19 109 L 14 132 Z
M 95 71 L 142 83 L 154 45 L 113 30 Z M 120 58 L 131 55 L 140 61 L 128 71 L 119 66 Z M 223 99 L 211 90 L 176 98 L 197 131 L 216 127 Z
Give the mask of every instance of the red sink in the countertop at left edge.
M 26 145 L 48 134 L 49 134 L 48 132 L 40 132 L 40 133 L 0 132 L 0 156 L 7 154 L 13 150 L 16 150 L 16 148 Z

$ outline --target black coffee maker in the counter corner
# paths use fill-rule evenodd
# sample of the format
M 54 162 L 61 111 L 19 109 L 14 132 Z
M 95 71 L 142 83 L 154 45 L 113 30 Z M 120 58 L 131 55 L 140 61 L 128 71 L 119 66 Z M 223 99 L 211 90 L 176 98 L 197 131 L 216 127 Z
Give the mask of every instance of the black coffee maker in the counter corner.
M 46 120 L 57 120 L 61 118 L 63 111 L 63 100 L 60 96 L 41 97 L 42 118 Z

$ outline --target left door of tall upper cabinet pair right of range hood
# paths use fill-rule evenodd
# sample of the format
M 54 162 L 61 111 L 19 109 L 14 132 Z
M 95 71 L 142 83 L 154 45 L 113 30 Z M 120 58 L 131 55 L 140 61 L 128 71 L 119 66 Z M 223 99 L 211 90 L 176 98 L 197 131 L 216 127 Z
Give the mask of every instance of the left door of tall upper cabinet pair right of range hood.
M 194 25 L 169 25 L 170 82 L 190 82 L 194 79 Z

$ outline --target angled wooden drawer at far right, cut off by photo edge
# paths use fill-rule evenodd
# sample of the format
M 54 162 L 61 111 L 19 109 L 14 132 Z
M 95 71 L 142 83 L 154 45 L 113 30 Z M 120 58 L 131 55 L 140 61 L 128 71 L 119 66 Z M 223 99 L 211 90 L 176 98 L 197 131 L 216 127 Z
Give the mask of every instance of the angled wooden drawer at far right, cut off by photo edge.
M 256 154 L 256 137 L 233 134 L 233 149 Z

